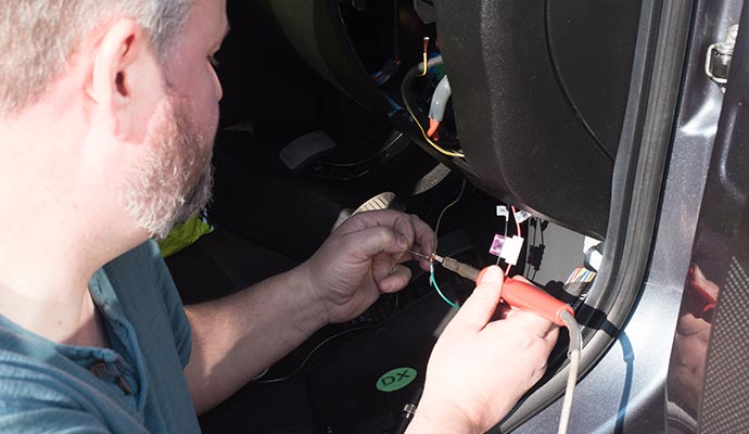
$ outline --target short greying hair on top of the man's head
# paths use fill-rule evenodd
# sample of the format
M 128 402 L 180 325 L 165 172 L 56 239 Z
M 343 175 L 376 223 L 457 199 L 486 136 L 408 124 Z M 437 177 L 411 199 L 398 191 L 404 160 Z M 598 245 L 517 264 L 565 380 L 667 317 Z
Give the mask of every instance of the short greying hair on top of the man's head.
M 62 72 L 84 37 L 127 16 L 164 61 L 194 0 L 0 0 L 0 115 L 21 111 Z

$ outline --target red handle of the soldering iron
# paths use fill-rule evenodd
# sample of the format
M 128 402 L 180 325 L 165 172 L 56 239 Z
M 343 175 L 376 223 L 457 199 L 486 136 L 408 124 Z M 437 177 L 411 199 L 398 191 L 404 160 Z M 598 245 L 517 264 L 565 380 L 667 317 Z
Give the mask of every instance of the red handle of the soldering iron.
M 484 268 L 479 273 L 477 283 L 481 282 L 481 278 L 485 270 Z M 563 311 L 567 310 L 574 316 L 574 310 L 567 303 L 553 297 L 531 284 L 511 278 L 505 278 L 505 283 L 502 285 L 502 298 L 510 306 L 534 312 L 560 327 L 564 327 L 564 322 L 561 320 L 561 314 Z

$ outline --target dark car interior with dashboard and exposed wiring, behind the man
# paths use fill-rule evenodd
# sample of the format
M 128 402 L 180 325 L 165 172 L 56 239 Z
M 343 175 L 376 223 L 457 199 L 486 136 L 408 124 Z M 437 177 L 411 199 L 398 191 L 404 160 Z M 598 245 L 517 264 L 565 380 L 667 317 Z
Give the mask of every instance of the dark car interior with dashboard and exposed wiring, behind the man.
M 206 301 L 304 261 L 354 213 L 404 210 L 436 229 L 439 255 L 499 264 L 572 306 L 584 374 L 638 296 L 689 10 L 435 3 L 228 1 L 213 231 L 167 265 L 186 304 Z M 513 237 L 517 258 L 498 257 Z M 409 265 L 404 291 L 314 334 L 202 416 L 204 432 L 396 432 L 455 310 L 444 298 L 474 288 Z M 399 368 L 415 380 L 377 387 Z M 570 368 L 560 333 L 496 432 L 558 400 Z

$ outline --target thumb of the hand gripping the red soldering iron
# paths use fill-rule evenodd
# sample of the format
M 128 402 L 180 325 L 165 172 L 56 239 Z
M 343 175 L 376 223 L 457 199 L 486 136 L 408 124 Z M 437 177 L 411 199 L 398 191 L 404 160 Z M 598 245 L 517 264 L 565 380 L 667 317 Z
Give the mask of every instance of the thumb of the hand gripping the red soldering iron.
M 494 316 L 502 298 L 502 283 L 505 275 L 493 265 L 486 269 L 473 294 L 464 303 L 455 320 L 474 330 L 483 329 Z

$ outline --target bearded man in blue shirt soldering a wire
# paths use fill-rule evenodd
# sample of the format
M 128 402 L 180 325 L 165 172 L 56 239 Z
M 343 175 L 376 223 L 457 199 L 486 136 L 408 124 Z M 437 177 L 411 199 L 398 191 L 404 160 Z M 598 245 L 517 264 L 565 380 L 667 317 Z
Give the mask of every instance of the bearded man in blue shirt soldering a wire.
M 418 218 L 364 213 L 300 267 L 182 308 L 148 240 L 210 191 L 225 1 L 3 0 L 0 23 L 1 432 L 196 432 L 429 252 Z M 483 432 L 543 374 L 557 331 L 497 312 L 502 281 L 493 267 L 437 342 L 409 432 Z

